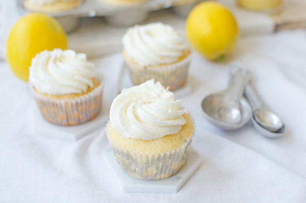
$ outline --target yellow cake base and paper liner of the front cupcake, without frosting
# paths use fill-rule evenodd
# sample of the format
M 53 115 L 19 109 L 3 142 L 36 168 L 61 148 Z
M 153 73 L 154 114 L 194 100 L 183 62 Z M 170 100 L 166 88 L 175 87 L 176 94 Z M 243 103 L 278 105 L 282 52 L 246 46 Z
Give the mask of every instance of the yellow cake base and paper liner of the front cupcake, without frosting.
M 185 127 L 182 126 L 182 133 L 180 131 L 164 136 L 163 140 L 160 138 L 152 141 L 126 139 L 121 135 L 117 137 L 118 132 L 115 132 L 109 122 L 106 134 L 118 164 L 126 173 L 140 179 L 164 179 L 176 174 L 186 162 L 195 131 L 194 119 L 188 114 L 184 117 L 188 123 Z M 160 141 L 166 142 L 165 145 L 159 146 Z

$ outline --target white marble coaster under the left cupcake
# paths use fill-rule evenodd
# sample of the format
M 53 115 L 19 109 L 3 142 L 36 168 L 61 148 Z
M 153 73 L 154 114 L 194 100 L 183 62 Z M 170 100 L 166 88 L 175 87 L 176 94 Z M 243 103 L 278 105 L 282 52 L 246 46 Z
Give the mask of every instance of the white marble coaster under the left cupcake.
M 102 127 L 109 119 L 108 104 L 103 101 L 99 114 L 86 123 L 75 126 L 59 126 L 47 122 L 41 115 L 36 101 L 32 104 L 34 130 L 39 136 L 76 141 L 90 132 Z

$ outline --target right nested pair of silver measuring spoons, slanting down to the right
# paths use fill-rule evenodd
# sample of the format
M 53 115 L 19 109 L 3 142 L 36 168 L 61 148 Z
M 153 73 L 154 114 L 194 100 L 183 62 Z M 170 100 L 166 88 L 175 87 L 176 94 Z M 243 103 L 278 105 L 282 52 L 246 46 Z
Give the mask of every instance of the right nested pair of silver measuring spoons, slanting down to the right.
M 282 122 L 281 118 L 267 108 L 255 91 L 252 83 L 248 83 L 245 86 L 244 94 L 246 95 L 253 109 L 251 119 L 254 128 L 269 138 L 283 136 L 286 131 L 284 123 Z

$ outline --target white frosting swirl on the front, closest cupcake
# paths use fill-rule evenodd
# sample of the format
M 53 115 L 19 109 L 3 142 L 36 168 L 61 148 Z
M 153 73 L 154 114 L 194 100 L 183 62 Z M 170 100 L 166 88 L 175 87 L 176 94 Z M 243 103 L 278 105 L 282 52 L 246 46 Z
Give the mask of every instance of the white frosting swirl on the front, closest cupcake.
M 182 100 L 174 101 L 173 93 L 151 79 L 123 89 L 111 105 L 110 120 L 124 138 L 153 140 L 182 129 L 187 110 L 181 104 Z

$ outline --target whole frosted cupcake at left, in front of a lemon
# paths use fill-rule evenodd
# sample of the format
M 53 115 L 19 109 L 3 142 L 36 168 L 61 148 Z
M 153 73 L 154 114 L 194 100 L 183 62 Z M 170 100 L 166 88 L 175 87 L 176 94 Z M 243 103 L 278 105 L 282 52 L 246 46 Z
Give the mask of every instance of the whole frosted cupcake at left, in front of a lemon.
M 103 76 L 93 67 L 86 54 L 73 50 L 45 50 L 32 59 L 29 86 L 45 120 L 78 125 L 98 114 Z

